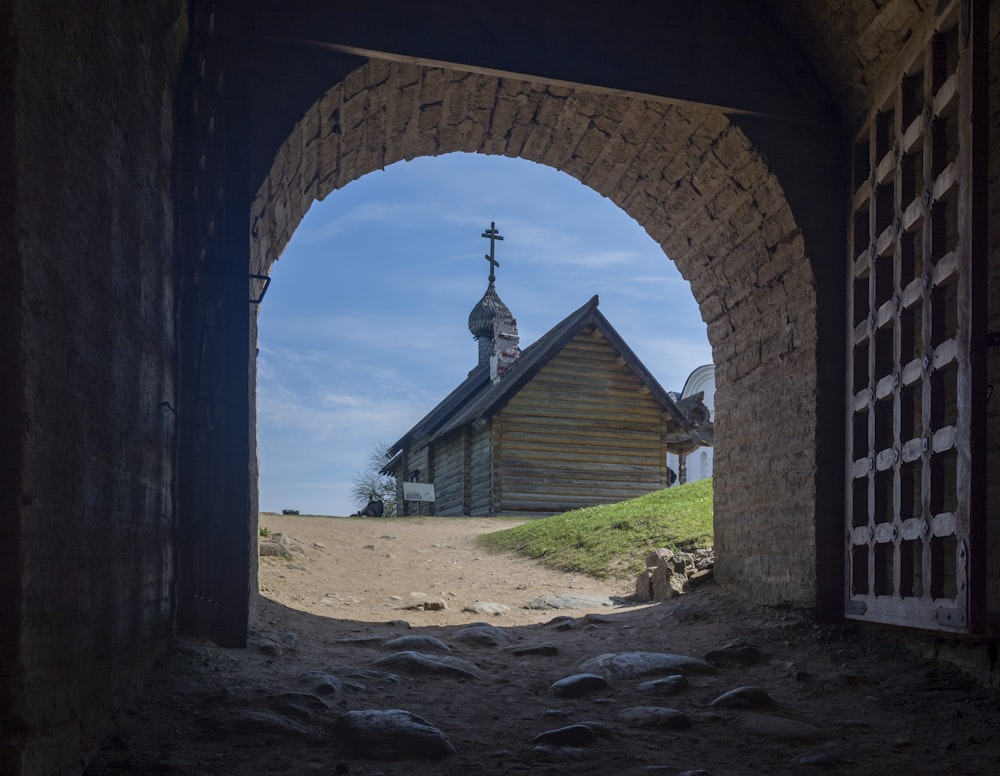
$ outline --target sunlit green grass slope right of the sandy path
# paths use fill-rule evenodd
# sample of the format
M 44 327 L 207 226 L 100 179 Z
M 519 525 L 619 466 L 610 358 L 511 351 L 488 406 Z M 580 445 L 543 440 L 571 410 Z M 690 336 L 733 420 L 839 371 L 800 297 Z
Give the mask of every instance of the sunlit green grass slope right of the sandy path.
M 657 547 L 691 551 L 712 545 L 712 480 L 575 509 L 485 534 L 478 544 L 593 577 L 627 578 Z

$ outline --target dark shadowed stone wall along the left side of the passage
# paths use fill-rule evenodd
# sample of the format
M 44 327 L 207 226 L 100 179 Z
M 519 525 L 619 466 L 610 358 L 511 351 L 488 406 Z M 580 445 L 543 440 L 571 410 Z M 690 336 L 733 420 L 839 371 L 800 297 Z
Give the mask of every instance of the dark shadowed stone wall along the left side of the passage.
M 0 772 L 48 776 L 79 769 L 171 629 L 187 17 L 181 0 L 9 7 Z

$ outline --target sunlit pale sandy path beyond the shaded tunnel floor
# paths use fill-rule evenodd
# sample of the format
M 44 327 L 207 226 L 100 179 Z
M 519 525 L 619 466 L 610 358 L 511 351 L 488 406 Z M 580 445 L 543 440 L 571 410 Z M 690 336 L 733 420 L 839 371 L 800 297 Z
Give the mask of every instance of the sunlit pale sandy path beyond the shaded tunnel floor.
M 403 618 L 415 626 L 482 620 L 464 612 L 474 601 L 510 607 L 505 625 L 551 619 L 552 611 L 525 609 L 540 596 L 578 593 L 601 598 L 634 592 L 634 581 L 595 580 L 477 548 L 483 533 L 518 525 L 503 518 L 323 518 L 265 513 L 260 524 L 293 540 L 291 560 L 264 558 L 261 593 L 295 609 L 363 622 Z M 401 607 L 426 597 L 444 611 Z M 599 611 L 595 607 L 586 611 Z M 499 623 L 498 623 L 499 624 Z

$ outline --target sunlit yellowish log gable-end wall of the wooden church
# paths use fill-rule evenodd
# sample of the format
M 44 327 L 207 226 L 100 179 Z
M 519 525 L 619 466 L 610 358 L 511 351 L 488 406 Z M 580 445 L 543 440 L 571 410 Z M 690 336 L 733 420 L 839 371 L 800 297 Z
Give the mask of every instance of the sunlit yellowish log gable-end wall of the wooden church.
M 577 335 L 495 419 L 501 514 L 561 512 L 665 487 L 663 408 L 598 335 Z

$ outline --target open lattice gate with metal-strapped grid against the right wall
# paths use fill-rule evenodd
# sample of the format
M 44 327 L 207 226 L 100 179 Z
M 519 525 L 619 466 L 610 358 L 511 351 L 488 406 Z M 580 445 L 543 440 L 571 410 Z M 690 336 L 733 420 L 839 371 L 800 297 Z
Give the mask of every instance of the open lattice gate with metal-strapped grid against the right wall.
M 931 9 L 855 139 L 851 618 L 983 627 L 986 6 Z

